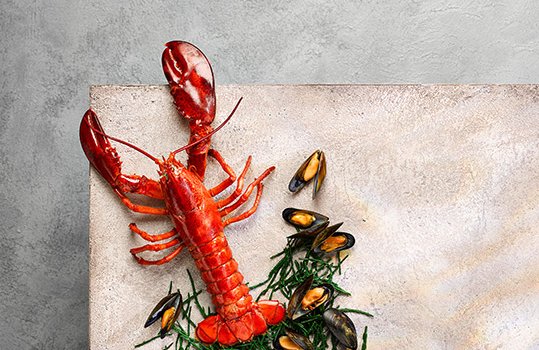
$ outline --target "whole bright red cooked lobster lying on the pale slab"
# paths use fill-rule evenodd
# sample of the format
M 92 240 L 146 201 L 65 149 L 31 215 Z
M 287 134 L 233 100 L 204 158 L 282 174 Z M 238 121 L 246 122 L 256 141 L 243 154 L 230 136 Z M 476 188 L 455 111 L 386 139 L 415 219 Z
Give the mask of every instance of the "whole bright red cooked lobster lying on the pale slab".
M 224 228 L 251 216 L 257 209 L 263 191 L 262 181 L 275 169 L 270 167 L 253 180 L 243 191 L 245 175 L 251 164 L 247 158 L 239 177 L 215 149 L 210 148 L 210 138 L 230 120 L 236 109 L 217 128 L 211 123 L 215 117 L 215 91 L 211 66 L 195 46 L 180 41 L 166 44 L 163 67 L 170 84 L 178 111 L 189 119 L 189 143 L 168 157 L 159 159 L 146 151 L 120 139 L 105 134 L 98 116 L 88 110 L 80 125 L 80 141 L 84 153 L 95 170 L 110 184 L 120 200 L 132 211 L 153 215 L 168 215 L 174 228 L 162 234 L 149 234 L 132 223 L 129 228 L 145 240 L 152 242 L 131 249 L 131 254 L 142 265 L 160 265 L 172 260 L 187 248 L 212 296 L 216 314 L 201 321 L 195 330 L 196 337 L 205 344 L 218 342 L 234 345 L 248 342 L 266 332 L 268 325 L 284 319 L 285 309 L 275 300 L 254 302 L 249 287 L 243 282 L 238 263 L 224 235 Z M 121 160 L 110 140 L 121 142 L 146 157 L 159 168 L 159 180 L 122 173 Z M 187 167 L 176 159 L 176 154 L 186 150 Z M 228 175 L 224 181 L 206 188 L 203 183 L 207 157 L 217 161 Z M 236 184 L 227 197 L 214 197 Z M 250 209 L 242 214 L 225 217 L 244 204 L 256 189 Z M 165 206 L 155 208 L 133 203 L 127 193 L 146 195 L 164 201 Z M 155 243 L 171 239 L 166 243 Z M 174 248 L 159 260 L 139 257 L 144 251 L 161 251 Z

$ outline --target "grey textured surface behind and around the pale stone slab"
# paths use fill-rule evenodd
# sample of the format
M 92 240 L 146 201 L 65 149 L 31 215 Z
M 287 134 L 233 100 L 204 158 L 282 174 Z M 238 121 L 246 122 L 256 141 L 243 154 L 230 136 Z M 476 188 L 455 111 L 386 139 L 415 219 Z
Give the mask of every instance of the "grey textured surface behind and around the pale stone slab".
M 0 348 L 77 349 L 88 335 L 91 84 L 161 84 L 182 39 L 227 83 L 537 83 L 539 3 L 0 3 Z M 113 233 L 111 233 L 113 234 Z

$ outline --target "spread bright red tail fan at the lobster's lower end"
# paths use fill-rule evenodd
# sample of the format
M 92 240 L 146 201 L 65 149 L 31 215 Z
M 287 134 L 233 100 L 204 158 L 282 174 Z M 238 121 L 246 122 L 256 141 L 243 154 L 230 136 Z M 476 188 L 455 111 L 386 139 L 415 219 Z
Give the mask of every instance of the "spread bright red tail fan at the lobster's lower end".
M 250 311 L 236 319 L 225 320 L 220 315 L 207 317 L 198 324 L 196 336 L 206 344 L 219 342 L 229 346 L 244 343 L 265 333 L 268 325 L 281 322 L 284 315 L 285 309 L 278 301 L 262 300 L 253 303 Z

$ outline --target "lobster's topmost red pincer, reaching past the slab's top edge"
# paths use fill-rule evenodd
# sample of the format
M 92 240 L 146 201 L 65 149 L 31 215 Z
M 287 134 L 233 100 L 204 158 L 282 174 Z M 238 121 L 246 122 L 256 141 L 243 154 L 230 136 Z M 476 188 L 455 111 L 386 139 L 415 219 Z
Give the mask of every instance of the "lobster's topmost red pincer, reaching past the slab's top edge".
M 178 112 L 209 125 L 215 118 L 215 82 L 210 62 L 196 46 L 171 41 L 163 51 L 163 71 Z

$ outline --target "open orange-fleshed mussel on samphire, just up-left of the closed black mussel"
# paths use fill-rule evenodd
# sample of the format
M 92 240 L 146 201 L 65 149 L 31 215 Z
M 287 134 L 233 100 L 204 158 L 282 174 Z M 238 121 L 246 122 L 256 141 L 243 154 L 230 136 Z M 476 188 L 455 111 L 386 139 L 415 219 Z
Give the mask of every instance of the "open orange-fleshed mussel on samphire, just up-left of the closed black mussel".
M 314 276 L 310 276 L 292 293 L 286 309 L 286 315 L 289 319 L 300 318 L 327 303 L 333 297 L 335 290 L 332 285 L 321 284 L 313 287 L 313 281 Z

